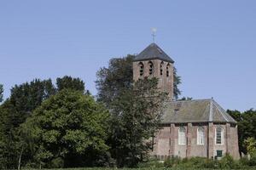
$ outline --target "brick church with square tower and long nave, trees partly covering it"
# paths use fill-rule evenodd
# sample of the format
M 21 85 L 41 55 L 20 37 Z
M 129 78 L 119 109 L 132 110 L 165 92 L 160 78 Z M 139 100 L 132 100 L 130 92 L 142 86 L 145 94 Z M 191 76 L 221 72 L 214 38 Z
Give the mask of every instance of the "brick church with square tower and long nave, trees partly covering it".
M 214 99 L 175 101 L 173 65 L 157 44 L 151 43 L 133 60 L 133 79 L 157 77 L 158 88 L 168 94 L 160 126 L 154 137 L 152 156 L 220 159 L 230 154 L 239 159 L 236 121 Z

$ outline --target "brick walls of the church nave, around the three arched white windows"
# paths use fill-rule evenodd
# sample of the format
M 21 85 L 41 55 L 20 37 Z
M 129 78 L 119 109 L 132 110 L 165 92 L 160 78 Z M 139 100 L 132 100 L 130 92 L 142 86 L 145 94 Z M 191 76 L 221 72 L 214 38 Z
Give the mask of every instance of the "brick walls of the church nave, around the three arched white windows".
M 178 144 L 178 128 L 185 127 L 186 129 L 186 144 Z M 216 127 L 224 128 L 224 143 L 216 144 Z M 204 143 L 197 144 L 197 129 L 204 129 Z M 217 156 L 217 150 L 221 150 L 224 156 L 229 153 L 234 159 L 239 159 L 238 139 L 236 125 L 230 123 L 214 124 L 209 123 L 186 123 L 186 124 L 171 124 L 163 127 L 158 133 L 153 155 L 158 157 L 179 156 L 192 157 L 201 156 L 213 158 Z

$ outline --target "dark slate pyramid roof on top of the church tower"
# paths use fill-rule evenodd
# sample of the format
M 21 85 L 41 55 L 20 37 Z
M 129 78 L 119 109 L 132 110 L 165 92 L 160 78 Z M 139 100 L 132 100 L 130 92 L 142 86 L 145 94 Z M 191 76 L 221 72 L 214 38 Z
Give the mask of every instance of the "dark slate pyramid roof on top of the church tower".
M 161 59 L 170 63 L 174 63 L 174 61 L 155 43 L 151 43 L 140 54 L 137 54 L 134 61 L 143 61 L 149 59 Z

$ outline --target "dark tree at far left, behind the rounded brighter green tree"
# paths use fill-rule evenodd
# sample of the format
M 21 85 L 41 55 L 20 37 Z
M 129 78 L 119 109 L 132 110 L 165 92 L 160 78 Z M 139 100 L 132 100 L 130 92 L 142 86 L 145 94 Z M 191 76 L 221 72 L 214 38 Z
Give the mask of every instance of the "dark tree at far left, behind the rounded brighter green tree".
M 2 105 L 2 119 L 4 122 L 4 157 L 7 159 L 7 168 L 17 168 L 18 158 L 24 155 L 23 145 L 20 139 L 20 124 L 26 121 L 32 111 L 41 105 L 44 99 L 55 94 L 55 88 L 51 80 L 41 81 L 35 79 L 32 82 L 26 82 L 21 85 L 15 85 L 11 89 L 9 99 L 6 99 Z M 29 153 L 26 153 L 29 159 Z

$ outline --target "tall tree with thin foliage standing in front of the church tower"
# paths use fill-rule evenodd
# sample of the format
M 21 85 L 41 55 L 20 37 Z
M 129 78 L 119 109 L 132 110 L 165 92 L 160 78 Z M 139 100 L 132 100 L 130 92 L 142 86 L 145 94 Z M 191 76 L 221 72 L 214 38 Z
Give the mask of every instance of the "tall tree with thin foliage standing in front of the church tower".
M 139 80 L 113 100 L 110 106 L 112 156 L 118 167 L 135 167 L 152 150 L 159 130 L 166 94 L 157 90 L 158 79 Z

